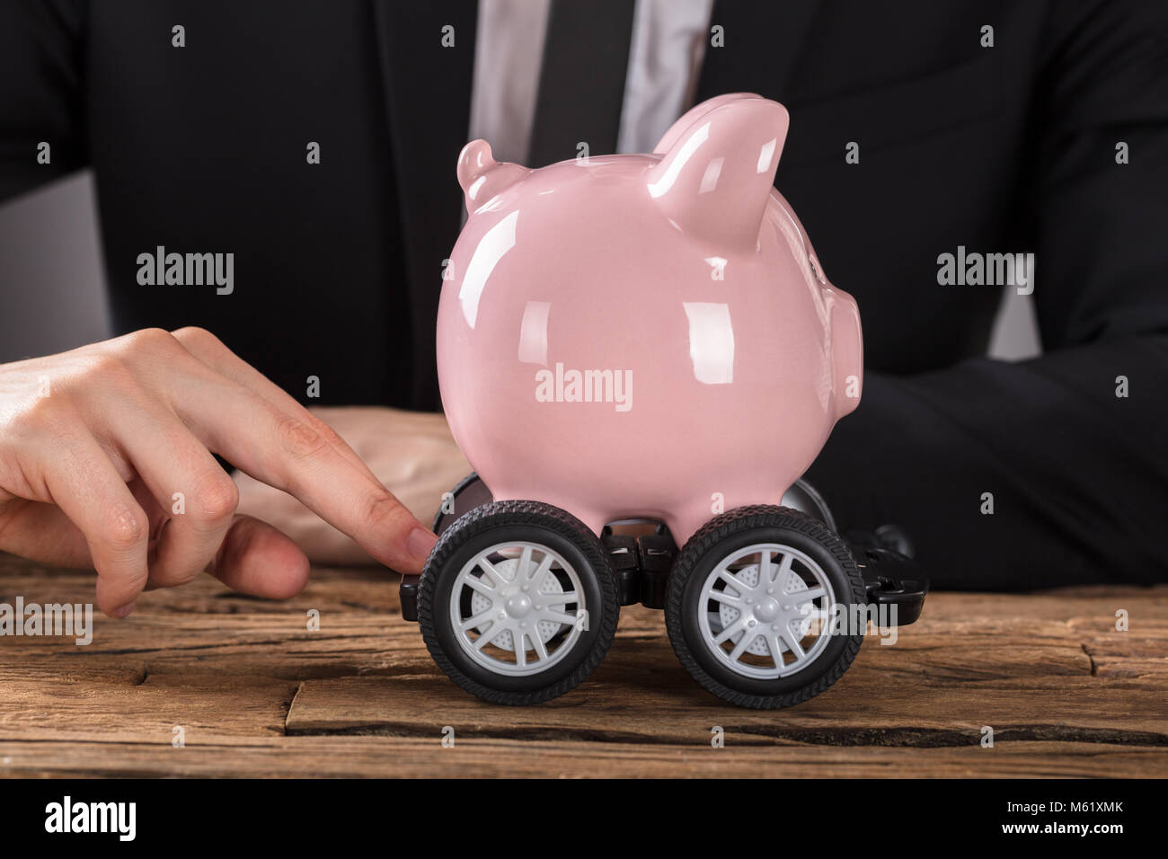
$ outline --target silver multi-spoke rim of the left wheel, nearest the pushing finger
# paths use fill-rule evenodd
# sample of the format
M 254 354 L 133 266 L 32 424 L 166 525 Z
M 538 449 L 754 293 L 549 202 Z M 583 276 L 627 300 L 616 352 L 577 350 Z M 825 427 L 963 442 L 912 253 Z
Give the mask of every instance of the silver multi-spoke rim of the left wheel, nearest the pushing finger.
M 464 615 L 466 590 L 471 610 Z M 523 677 L 556 665 L 588 628 L 586 618 L 579 575 L 562 555 L 537 542 L 517 540 L 479 552 L 451 589 L 450 619 L 459 646 L 498 674 Z

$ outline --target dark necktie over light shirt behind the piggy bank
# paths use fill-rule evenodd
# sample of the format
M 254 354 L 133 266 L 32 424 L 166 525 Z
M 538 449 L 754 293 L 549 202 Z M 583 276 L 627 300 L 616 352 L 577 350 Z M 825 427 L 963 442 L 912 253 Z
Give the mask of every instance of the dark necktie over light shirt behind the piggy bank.
M 634 0 L 551 0 L 528 166 L 617 148 Z

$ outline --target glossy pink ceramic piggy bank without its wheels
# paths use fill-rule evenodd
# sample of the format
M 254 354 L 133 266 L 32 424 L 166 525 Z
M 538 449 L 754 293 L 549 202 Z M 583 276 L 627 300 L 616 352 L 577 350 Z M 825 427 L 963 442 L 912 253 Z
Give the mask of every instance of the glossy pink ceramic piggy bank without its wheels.
M 438 375 L 496 500 L 596 532 L 662 519 L 681 545 L 721 510 L 778 504 L 856 407 L 856 303 L 772 187 L 786 132 L 783 105 L 737 93 L 654 154 L 529 171 L 466 145 Z

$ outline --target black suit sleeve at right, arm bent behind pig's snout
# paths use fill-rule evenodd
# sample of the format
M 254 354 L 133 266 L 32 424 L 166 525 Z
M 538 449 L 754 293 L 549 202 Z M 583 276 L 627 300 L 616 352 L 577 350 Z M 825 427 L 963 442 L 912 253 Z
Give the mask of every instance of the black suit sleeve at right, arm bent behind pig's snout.
M 940 587 L 1168 581 L 1164 9 L 1051 4 L 1003 213 L 1035 250 L 1043 355 L 870 374 L 808 471 L 843 528 L 905 527 Z

